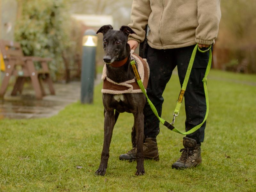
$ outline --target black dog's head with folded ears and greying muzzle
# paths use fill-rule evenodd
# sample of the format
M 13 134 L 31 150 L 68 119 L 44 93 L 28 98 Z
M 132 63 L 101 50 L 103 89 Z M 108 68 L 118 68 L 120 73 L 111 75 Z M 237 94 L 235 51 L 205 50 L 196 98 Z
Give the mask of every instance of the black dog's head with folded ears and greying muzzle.
M 129 34 L 135 33 L 130 27 L 122 26 L 119 30 L 113 30 L 111 25 L 104 25 L 98 31 L 103 34 L 103 60 L 107 64 L 126 58 L 131 49 L 127 44 Z

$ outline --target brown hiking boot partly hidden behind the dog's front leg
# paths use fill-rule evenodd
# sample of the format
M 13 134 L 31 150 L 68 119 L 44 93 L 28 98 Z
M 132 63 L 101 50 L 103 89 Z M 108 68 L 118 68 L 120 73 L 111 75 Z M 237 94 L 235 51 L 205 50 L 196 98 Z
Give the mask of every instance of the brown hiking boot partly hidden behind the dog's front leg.
M 136 160 L 137 147 L 132 148 L 125 154 L 119 156 L 120 160 Z M 155 161 L 159 160 L 158 148 L 156 143 L 156 138 L 146 138 L 145 143 L 143 143 L 143 153 L 145 159 L 153 159 Z

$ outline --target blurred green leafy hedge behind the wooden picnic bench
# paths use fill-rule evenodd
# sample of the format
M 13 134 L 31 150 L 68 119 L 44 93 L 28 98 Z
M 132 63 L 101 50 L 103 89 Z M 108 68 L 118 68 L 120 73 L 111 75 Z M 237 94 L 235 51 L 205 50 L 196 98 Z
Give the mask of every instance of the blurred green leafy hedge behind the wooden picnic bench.
M 62 52 L 73 45 L 66 0 L 23 0 L 15 28 L 15 40 L 26 56 L 50 57 L 54 79 L 63 70 Z M 61 72 L 62 73 L 62 72 Z

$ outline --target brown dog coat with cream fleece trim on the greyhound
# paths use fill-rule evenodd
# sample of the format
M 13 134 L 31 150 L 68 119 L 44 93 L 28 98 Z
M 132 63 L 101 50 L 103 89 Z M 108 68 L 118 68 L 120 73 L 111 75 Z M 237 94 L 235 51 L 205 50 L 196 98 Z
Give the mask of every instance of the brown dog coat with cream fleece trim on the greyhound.
M 148 86 L 148 78 L 149 78 L 149 67 L 148 62 L 146 59 L 142 59 L 137 54 L 132 54 L 133 50 L 131 51 L 131 55 L 134 58 L 138 72 L 140 74 L 141 81 L 146 89 Z M 116 83 L 113 80 L 107 77 L 107 64 L 103 67 L 103 72 L 101 79 L 103 80 L 103 88 L 101 90 L 102 93 L 110 93 L 110 94 L 123 94 L 123 93 L 142 93 L 135 77 L 131 80 Z

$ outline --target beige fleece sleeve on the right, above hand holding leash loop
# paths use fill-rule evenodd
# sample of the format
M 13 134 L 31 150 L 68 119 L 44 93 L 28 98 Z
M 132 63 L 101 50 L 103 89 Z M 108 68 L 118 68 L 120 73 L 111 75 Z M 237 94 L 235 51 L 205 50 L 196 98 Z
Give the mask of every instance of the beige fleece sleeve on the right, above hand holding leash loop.
M 220 0 L 197 0 L 196 43 L 214 44 L 221 18 Z

